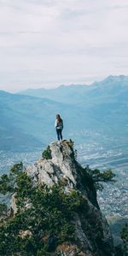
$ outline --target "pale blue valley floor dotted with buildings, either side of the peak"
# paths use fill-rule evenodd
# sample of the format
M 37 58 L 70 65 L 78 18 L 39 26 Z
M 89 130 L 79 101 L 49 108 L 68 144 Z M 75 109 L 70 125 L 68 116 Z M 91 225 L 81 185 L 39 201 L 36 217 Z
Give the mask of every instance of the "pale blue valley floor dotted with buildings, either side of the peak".
M 119 146 L 118 146 L 119 145 Z M 113 145 L 102 143 L 84 143 L 75 145 L 78 160 L 82 166 L 106 170 L 112 168 L 116 174 L 114 183 L 104 183 L 104 189 L 97 194 L 102 212 L 109 218 L 117 216 L 128 218 L 128 148 L 126 143 L 114 142 Z M 14 153 L 0 151 L 0 174 L 9 172 L 15 163 L 23 161 L 27 166 L 41 158 L 43 149 L 33 152 Z

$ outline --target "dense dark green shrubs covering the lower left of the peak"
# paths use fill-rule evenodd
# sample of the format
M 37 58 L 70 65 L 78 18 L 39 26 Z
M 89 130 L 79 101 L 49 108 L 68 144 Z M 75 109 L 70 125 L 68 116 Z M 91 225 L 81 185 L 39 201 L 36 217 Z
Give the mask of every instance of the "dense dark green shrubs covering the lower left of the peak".
M 88 208 L 77 190 L 66 193 L 62 183 L 33 186 L 22 163 L 0 179 L 0 193 L 16 193 L 17 213 L 0 222 L 0 255 L 55 255 L 62 242 L 75 241 L 74 216 Z M 27 205 L 27 207 L 26 207 Z

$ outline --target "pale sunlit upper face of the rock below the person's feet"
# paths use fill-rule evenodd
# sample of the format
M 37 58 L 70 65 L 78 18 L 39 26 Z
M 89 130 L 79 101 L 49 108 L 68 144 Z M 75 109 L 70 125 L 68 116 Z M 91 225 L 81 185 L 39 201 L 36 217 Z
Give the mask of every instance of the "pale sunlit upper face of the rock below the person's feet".
M 67 143 L 51 143 L 51 159 L 39 160 L 28 166 L 26 172 L 36 182 L 44 182 L 49 186 L 67 178 L 70 187 L 76 186 L 77 169 L 73 159 L 73 149 Z

